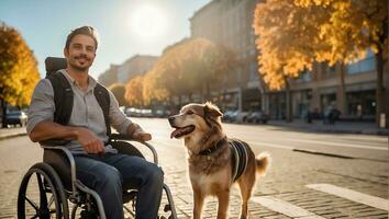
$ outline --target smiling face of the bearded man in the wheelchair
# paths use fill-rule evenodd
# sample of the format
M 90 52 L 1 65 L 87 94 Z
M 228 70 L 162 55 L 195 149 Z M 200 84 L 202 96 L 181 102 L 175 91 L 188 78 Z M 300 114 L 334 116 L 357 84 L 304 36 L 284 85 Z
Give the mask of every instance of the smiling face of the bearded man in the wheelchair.
M 70 67 L 86 71 L 93 64 L 96 57 L 95 41 L 87 35 L 76 35 L 73 37 L 69 48 L 64 49 L 64 54 Z

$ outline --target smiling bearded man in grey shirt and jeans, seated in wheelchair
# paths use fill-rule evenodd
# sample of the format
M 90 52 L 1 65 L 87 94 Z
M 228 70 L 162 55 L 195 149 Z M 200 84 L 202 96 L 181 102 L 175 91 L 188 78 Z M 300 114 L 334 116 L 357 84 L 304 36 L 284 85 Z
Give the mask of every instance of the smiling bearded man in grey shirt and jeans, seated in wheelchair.
M 110 145 L 104 146 L 109 139 L 105 119 L 93 94 L 99 84 L 88 74 L 97 48 L 98 36 L 93 27 L 82 26 L 67 36 L 64 48 L 67 68 L 56 73 L 62 73 L 73 90 L 69 122 L 67 125 L 54 122 L 57 110 L 54 88 L 48 79 L 43 79 L 34 90 L 29 108 L 27 134 L 34 142 L 70 140 L 66 147 L 75 155 L 77 177 L 100 195 L 107 218 L 123 219 L 122 189 L 130 184 L 138 188 L 136 218 L 157 218 L 164 178 L 162 170 L 144 159 L 120 154 Z M 110 125 L 137 140 L 151 140 L 151 134 L 126 118 L 114 95 L 108 92 Z

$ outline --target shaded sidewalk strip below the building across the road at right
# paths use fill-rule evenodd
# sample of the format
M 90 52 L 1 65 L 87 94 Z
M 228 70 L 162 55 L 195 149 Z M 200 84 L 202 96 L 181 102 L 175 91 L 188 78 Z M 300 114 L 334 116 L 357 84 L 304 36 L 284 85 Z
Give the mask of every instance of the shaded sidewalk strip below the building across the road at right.
M 378 128 L 375 123 L 366 122 L 336 122 L 334 125 L 324 125 L 323 120 L 313 120 L 311 124 L 308 124 L 303 119 L 293 119 L 291 123 L 286 123 L 285 120 L 268 120 L 267 124 L 315 132 L 389 135 L 388 128 Z

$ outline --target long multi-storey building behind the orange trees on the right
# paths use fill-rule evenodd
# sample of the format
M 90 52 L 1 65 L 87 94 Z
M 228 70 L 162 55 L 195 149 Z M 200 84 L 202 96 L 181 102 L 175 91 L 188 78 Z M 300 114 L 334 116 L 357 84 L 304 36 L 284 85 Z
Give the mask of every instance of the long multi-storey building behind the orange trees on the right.
M 285 91 L 270 92 L 258 77 L 257 49 L 253 16 L 259 0 L 212 0 L 190 19 L 191 37 L 205 37 L 232 49 L 242 64 L 225 76 L 221 107 L 225 110 L 263 110 L 274 119 L 286 116 Z M 385 67 L 388 71 L 388 66 Z M 343 118 L 373 120 L 376 112 L 377 71 L 375 57 L 367 57 L 344 68 L 315 64 L 312 71 L 290 81 L 292 113 L 303 117 L 307 112 L 322 115 L 327 108 L 337 108 Z M 388 73 L 384 73 L 388 90 Z M 387 92 L 388 93 L 388 92 Z M 384 104 L 387 104 L 384 103 Z

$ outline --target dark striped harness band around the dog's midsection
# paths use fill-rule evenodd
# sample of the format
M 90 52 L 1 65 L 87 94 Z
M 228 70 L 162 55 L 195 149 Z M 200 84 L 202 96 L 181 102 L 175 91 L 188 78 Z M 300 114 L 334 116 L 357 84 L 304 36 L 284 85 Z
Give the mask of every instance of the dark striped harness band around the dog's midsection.
M 231 157 L 233 161 L 232 182 L 235 182 L 237 178 L 241 177 L 241 175 L 247 168 L 248 153 L 245 143 L 237 139 L 229 139 L 229 146 L 231 148 Z

